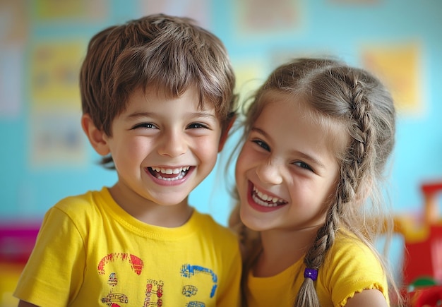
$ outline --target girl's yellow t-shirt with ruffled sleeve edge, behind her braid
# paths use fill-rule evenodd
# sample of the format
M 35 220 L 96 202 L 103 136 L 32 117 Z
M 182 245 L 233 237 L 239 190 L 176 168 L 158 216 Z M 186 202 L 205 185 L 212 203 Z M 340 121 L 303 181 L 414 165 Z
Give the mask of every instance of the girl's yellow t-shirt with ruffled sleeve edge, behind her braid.
M 272 277 L 248 273 L 249 307 L 293 306 L 304 281 L 304 259 Z M 347 299 L 364 289 L 379 289 L 388 301 L 388 284 L 381 263 L 362 241 L 340 231 L 318 270 L 316 293 L 322 307 L 345 306 Z

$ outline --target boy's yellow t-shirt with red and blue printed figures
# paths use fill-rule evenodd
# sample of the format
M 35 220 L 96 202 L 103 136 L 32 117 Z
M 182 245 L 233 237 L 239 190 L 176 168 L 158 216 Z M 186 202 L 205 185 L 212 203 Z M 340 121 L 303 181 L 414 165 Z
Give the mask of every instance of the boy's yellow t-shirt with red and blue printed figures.
M 107 188 L 65 198 L 44 217 L 15 296 L 37 306 L 239 306 L 237 237 L 194 210 L 156 227 Z

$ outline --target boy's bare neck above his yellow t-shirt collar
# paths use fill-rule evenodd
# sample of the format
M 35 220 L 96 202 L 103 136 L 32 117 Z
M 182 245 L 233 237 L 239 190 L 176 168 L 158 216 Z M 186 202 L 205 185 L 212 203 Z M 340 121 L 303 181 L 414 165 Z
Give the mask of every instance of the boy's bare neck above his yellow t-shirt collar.
M 193 207 L 189 206 L 187 198 L 177 205 L 159 205 L 135 193 L 131 194 L 131 198 L 127 198 L 121 193 L 118 185 L 109 188 L 109 193 L 117 205 L 129 215 L 153 226 L 179 227 L 189 221 L 193 212 Z

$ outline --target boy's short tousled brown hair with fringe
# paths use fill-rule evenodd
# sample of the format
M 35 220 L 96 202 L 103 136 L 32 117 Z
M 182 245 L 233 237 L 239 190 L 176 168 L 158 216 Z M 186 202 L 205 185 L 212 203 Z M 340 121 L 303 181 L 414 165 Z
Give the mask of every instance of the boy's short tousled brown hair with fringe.
M 98 32 L 80 71 L 83 114 L 112 136 L 112 121 L 141 88 L 179 97 L 191 86 L 199 104 L 210 103 L 225 131 L 237 100 L 227 50 L 213 33 L 190 18 L 154 14 Z M 102 164 L 113 168 L 112 157 Z

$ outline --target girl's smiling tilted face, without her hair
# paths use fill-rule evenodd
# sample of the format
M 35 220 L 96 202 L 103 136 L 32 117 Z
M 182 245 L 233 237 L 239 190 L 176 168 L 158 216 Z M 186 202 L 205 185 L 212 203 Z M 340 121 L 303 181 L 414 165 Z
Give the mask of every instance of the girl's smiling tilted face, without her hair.
M 256 231 L 323 224 L 339 167 L 330 133 L 302 100 L 270 92 L 236 168 L 241 219 Z M 333 139 L 336 140 L 336 139 Z

